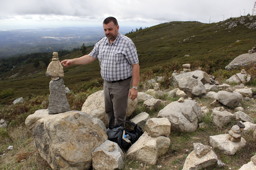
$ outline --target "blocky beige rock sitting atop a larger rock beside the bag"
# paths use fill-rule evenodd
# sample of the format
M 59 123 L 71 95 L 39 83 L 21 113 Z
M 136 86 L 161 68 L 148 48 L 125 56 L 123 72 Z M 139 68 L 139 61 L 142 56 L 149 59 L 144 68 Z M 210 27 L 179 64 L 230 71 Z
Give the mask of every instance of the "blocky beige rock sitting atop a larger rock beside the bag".
M 169 137 L 171 133 L 171 123 L 165 117 L 151 118 L 146 122 L 145 130 L 151 137 Z

